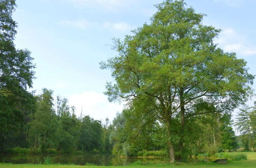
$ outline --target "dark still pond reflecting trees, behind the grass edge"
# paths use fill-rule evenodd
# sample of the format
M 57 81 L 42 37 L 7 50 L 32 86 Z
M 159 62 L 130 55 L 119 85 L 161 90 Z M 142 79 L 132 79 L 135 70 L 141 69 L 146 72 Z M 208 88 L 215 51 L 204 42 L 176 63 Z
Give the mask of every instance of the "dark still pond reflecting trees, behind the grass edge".
M 115 157 L 110 154 L 1 154 L 0 162 L 4 163 L 32 163 L 42 164 L 45 160 L 51 163 L 61 164 L 79 164 L 86 163 L 95 165 L 128 165 L 135 161 L 141 161 L 142 164 L 156 164 L 168 162 L 162 157 Z M 197 158 L 189 162 L 209 162 L 212 160 L 206 158 Z

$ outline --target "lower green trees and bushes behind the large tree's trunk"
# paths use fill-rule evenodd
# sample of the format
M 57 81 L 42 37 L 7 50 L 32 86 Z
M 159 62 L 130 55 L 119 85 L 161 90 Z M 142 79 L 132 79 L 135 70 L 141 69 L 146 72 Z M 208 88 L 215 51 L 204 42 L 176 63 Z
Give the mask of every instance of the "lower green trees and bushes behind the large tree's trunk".
M 215 154 L 238 148 L 236 135 L 231 127 L 230 114 L 202 115 L 191 121 L 189 125 L 185 134 L 187 148 L 185 153 L 182 153 L 184 156 L 195 156 L 200 153 Z M 113 126 L 114 130 L 111 134 L 113 154 L 136 156 L 138 151 L 143 150 L 168 150 L 166 130 L 159 122 L 148 122 L 142 116 L 136 116 L 131 110 L 123 110 L 114 119 Z M 178 128 L 176 131 L 179 131 Z

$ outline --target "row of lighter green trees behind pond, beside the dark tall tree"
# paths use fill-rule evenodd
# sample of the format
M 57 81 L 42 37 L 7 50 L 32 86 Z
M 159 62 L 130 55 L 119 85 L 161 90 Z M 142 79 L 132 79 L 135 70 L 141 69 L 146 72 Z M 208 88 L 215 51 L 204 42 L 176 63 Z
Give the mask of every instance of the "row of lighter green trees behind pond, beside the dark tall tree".
M 36 96 L 36 110 L 28 123 L 29 147 L 46 152 L 56 149 L 60 152 L 103 150 L 103 128 L 101 122 L 89 116 L 77 118 L 75 107 L 67 99 L 57 97 L 56 111 L 53 106 L 53 92 L 42 90 Z M 105 150 L 105 149 L 104 149 Z

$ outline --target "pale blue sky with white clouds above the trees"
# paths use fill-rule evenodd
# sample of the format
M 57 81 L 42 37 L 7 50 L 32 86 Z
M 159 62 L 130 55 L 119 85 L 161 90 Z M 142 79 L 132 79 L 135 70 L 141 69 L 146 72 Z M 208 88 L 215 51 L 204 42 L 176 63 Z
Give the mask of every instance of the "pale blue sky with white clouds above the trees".
M 28 48 L 36 64 L 33 90 L 54 91 L 75 105 L 77 114 L 104 120 L 115 117 L 123 105 L 109 103 L 102 93 L 110 71 L 99 62 L 116 55 L 112 38 L 120 38 L 148 22 L 158 0 L 16 0 L 18 22 L 15 44 Z M 248 62 L 256 74 L 256 1 L 187 0 L 203 23 L 222 29 L 216 43 Z M 256 90 L 256 85 L 253 89 Z M 255 100 L 255 98 L 254 98 Z M 248 102 L 252 105 L 252 101 Z

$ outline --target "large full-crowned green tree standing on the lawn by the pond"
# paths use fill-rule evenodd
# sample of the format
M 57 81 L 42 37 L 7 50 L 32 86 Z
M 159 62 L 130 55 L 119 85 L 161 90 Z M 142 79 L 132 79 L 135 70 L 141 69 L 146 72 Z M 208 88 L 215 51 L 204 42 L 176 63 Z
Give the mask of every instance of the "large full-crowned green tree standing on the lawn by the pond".
M 170 162 L 175 149 L 184 149 L 187 121 L 231 111 L 251 93 L 254 78 L 244 60 L 214 43 L 220 30 L 203 25 L 204 15 L 185 5 L 172 0 L 157 5 L 151 22 L 123 41 L 114 39 L 119 54 L 101 63 L 115 78 L 106 84 L 110 101 L 143 104 L 138 110 L 165 126 Z

